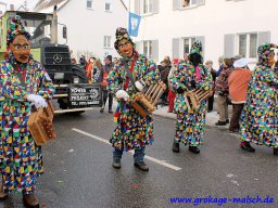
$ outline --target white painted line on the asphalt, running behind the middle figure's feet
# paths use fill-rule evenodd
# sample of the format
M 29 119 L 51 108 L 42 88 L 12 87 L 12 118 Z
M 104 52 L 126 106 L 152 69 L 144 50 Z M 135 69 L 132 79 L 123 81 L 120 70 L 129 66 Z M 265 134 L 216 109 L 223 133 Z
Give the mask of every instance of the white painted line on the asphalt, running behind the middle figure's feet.
M 90 134 L 90 133 L 88 133 L 88 132 L 86 132 L 86 131 L 83 131 L 83 130 L 79 130 L 79 129 L 76 129 L 76 128 L 73 128 L 72 130 L 73 130 L 73 131 L 76 131 L 76 132 L 78 132 L 78 133 L 81 133 L 81 134 L 84 134 L 84 135 L 87 135 L 87 136 L 89 136 L 89 138 L 92 138 L 92 139 L 94 139 L 94 140 L 98 140 L 98 141 L 100 141 L 100 142 L 103 142 L 103 143 L 105 143 L 105 144 L 110 144 L 110 142 L 109 142 L 108 140 L 104 140 L 104 139 L 99 138 L 99 136 L 93 135 L 93 134 Z M 111 144 L 110 144 L 110 145 L 111 145 Z M 134 154 L 135 154 L 135 151 L 129 151 L 129 153 L 134 155 Z M 181 170 L 181 168 L 179 168 L 179 167 L 177 167 L 177 166 L 173 166 L 173 165 L 170 165 L 170 164 L 168 164 L 168 162 L 166 162 L 166 161 L 164 161 L 164 160 L 160 160 L 160 159 L 156 159 L 156 158 L 151 157 L 151 156 L 148 156 L 148 155 L 146 155 L 144 158 L 148 159 L 148 160 L 150 160 L 150 161 L 153 161 L 153 162 L 155 162 L 155 164 L 159 164 L 159 165 L 161 165 L 161 166 L 164 166 L 164 167 L 166 167 L 166 168 L 169 168 L 169 169 L 172 169 L 172 170 L 176 170 L 176 171 Z

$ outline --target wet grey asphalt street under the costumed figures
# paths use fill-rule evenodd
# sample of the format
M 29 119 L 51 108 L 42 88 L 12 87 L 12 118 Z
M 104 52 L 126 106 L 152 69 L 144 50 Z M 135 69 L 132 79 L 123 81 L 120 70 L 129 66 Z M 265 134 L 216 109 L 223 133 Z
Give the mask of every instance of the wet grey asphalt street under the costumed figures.
M 207 127 L 201 154 L 190 153 L 188 146 L 181 146 L 177 154 L 172 152 L 175 121 L 155 117 L 155 143 L 147 147 L 152 158 L 146 159 L 150 171 L 142 172 L 134 167 L 129 153 L 124 154 L 122 169 L 113 169 L 113 148 L 105 143 L 115 127 L 112 114 L 98 109 L 79 116 L 61 114 L 55 116 L 54 126 L 58 139 L 43 146 L 45 174 L 38 179 L 41 207 L 220 207 L 204 198 L 248 195 L 269 196 L 275 202 L 227 202 L 223 207 L 278 207 L 278 157 L 264 146 L 256 146 L 255 154 L 243 152 L 238 136 L 226 130 Z M 170 203 L 176 197 L 192 197 L 192 203 Z M 194 206 L 197 197 L 203 203 Z M 22 208 L 21 195 L 10 196 L 0 207 Z

